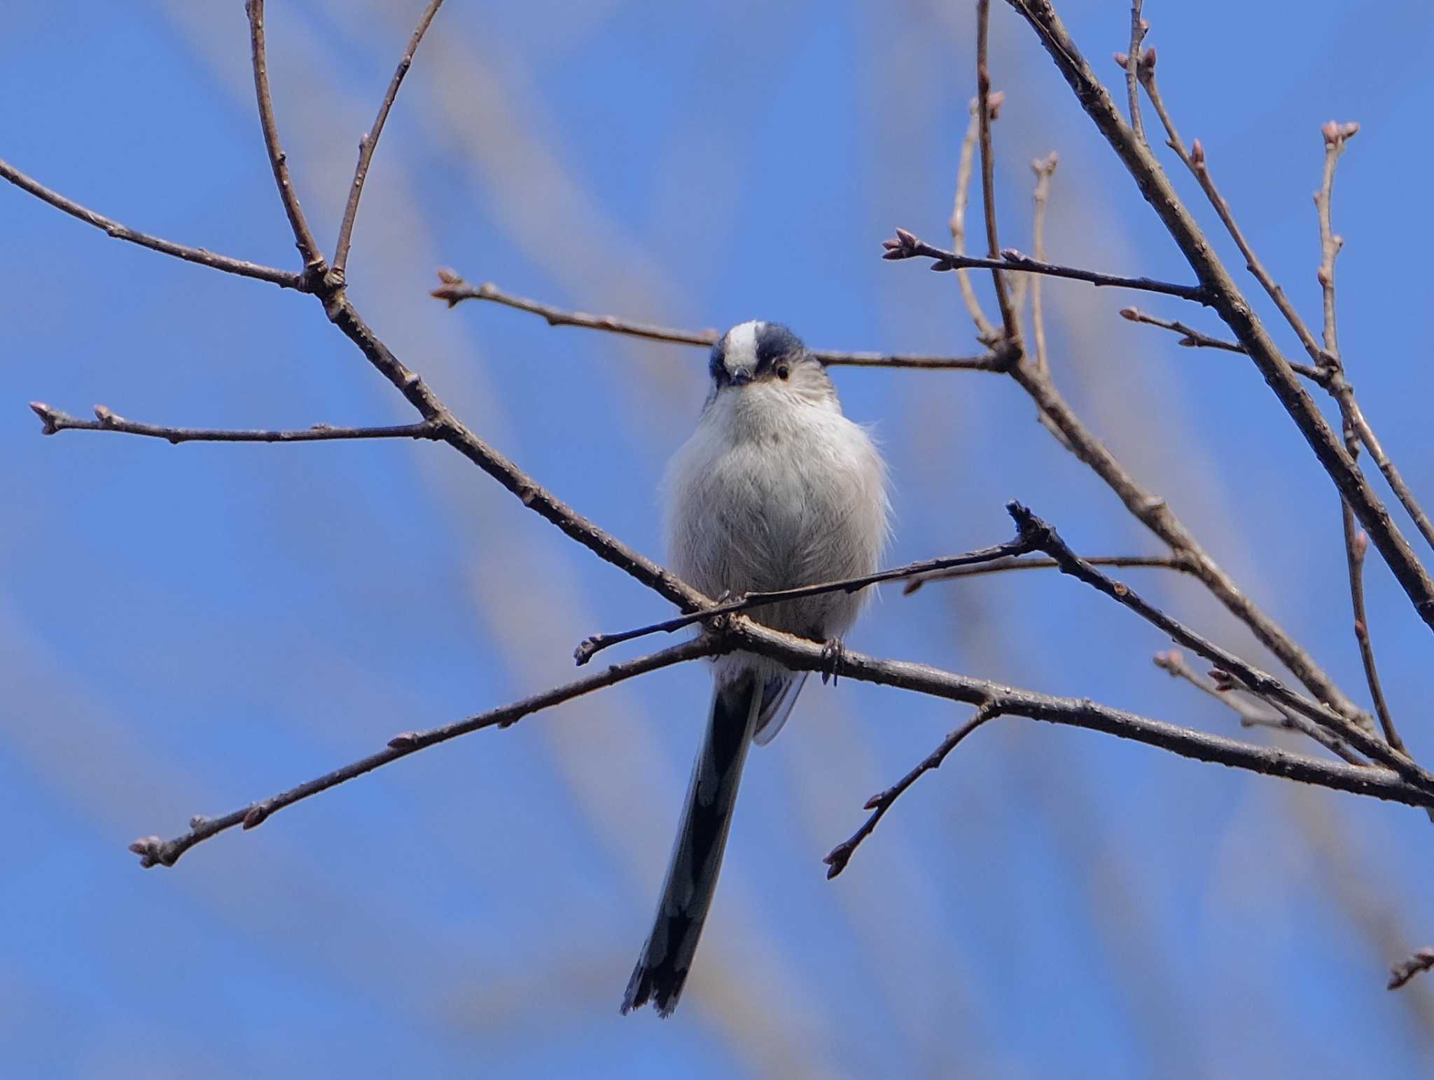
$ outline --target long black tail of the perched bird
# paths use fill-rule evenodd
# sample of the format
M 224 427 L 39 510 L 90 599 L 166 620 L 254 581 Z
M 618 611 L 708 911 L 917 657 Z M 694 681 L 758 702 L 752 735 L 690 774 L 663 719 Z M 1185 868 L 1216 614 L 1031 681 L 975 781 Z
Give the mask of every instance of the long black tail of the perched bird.
M 737 783 L 760 706 L 761 694 L 751 674 L 720 683 L 713 691 L 711 719 L 687 786 L 687 805 L 667 866 L 657 921 L 628 981 L 624 1013 L 648 1001 L 664 1017 L 677 1008 L 717 889 Z

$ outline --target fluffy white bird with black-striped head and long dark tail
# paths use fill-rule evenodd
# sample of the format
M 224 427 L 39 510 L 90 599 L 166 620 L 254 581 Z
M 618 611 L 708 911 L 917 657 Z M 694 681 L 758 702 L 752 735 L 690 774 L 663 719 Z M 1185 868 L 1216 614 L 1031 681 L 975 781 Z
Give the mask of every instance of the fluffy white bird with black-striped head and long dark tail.
M 673 569 L 714 598 L 873 574 L 889 535 L 886 465 L 842 413 L 826 364 L 780 323 L 734 326 L 713 346 L 711 389 L 663 483 Z M 869 591 L 749 610 L 823 643 L 835 670 Z M 713 661 L 713 697 L 652 931 L 622 1013 L 668 1017 L 711 908 L 747 749 L 782 730 L 807 673 L 754 653 Z M 826 676 L 823 674 L 823 681 Z

